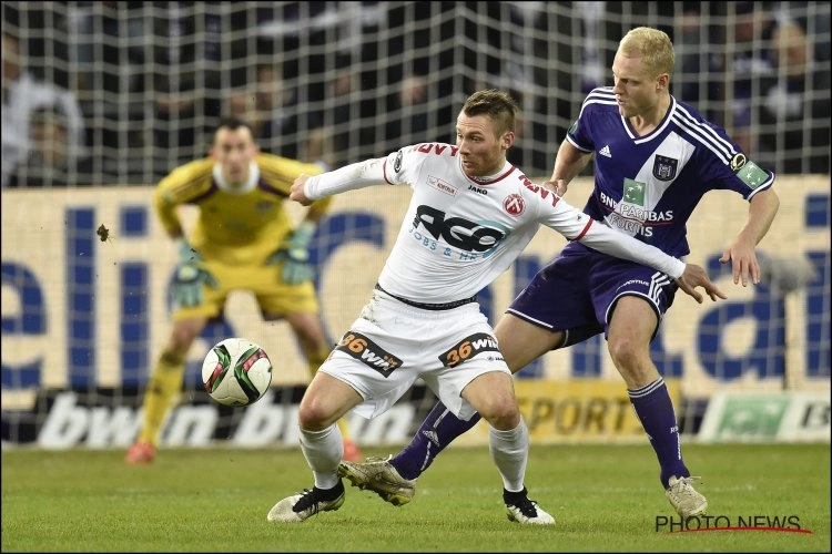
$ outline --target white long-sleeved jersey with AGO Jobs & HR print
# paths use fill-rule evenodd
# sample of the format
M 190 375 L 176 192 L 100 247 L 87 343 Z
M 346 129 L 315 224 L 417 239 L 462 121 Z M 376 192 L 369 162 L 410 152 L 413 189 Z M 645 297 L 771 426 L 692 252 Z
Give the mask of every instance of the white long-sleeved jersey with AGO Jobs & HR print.
M 384 183 L 410 186 L 413 197 L 378 284 L 416 302 L 473 297 L 511 265 L 541 224 L 673 278 L 684 271 L 683 261 L 593 220 L 509 163 L 490 177 L 468 177 L 457 153 L 450 144 L 406 146 L 311 177 L 304 193 L 317 199 Z

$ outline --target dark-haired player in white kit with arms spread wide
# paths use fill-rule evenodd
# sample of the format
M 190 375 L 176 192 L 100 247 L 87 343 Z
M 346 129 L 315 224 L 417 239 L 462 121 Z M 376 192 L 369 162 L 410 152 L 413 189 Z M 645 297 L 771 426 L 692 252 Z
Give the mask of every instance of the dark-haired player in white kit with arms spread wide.
M 312 380 L 298 411 L 301 448 L 314 486 L 272 507 L 272 522 L 301 522 L 344 503 L 342 440 L 335 421 L 348 410 L 384 413 L 422 378 L 460 420 L 480 413 L 503 478 L 508 519 L 551 524 L 524 483 L 528 429 L 509 371 L 476 294 L 517 258 L 540 224 L 591 248 L 647 264 L 701 301 L 723 297 L 703 268 L 569 206 L 506 161 L 517 104 L 480 91 L 465 102 L 456 145 L 426 143 L 313 177 L 300 176 L 291 198 L 316 199 L 369 185 L 413 189 L 396 243 L 372 298 Z M 586 274 L 584 274 L 586 277 Z M 669 280 L 670 277 L 668 277 Z

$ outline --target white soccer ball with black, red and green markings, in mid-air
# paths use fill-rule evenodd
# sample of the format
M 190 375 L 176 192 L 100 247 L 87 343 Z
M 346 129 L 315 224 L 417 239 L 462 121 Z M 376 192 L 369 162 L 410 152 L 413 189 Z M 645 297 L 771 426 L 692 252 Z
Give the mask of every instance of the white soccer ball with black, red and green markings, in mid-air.
M 225 406 L 248 406 L 272 383 L 272 362 L 265 350 L 243 338 L 221 340 L 202 362 L 205 391 Z

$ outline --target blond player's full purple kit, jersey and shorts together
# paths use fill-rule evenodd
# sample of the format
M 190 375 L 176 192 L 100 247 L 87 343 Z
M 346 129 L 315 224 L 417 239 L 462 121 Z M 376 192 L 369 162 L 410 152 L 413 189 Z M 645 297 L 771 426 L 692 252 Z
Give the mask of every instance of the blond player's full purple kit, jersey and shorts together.
M 612 89 L 596 89 L 567 140 L 595 152 L 595 188 L 584 212 L 677 257 L 690 254 L 686 223 L 708 191 L 729 189 L 750 201 L 774 182 L 724 130 L 672 96 L 662 122 L 639 136 L 619 114 Z M 677 290 L 660 271 L 570 243 L 507 311 L 565 331 L 564 347 L 603 331 L 622 296 L 643 298 L 661 320 Z

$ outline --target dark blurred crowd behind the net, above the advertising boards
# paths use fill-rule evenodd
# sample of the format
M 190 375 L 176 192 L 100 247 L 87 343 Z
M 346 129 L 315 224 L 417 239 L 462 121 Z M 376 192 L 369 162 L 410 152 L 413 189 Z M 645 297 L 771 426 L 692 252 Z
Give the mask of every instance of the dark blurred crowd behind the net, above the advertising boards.
M 650 18 L 667 23 L 657 27 L 679 48 L 678 93 L 735 131 L 774 171 L 829 173 L 830 22 L 821 3 L 427 6 L 12 1 L 2 12 L 4 33 L 26 43 L 21 65 L 82 110 L 80 134 L 75 109 L 63 110 L 71 144 L 93 154 L 75 185 L 149 185 L 204 154 L 223 104 L 255 75 L 256 110 L 271 111 L 252 120 L 264 152 L 298 158 L 314 133 L 331 141 L 337 162 L 348 163 L 378 143 L 446 140 L 442 122 L 453 117 L 454 96 L 496 86 L 511 91 L 524 110 L 510 160 L 542 174 L 547 145 L 565 134 L 580 103 L 576 93 L 608 72 L 609 38 Z M 717 18 L 726 25 L 714 24 Z M 461 48 L 460 31 L 468 39 Z M 805 47 L 798 45 L 798 31 Z M 795 45 L 773 44 L 785 40 Z M 477 43 L 489 48 L 480 52 L 471 48 Z M 783 48 L 792 57 L 803 50 L 805 63 L 783 64 Z M 4 60 L 6 51 L 4 44 Z M 11 117 L 3 102 L 3 116 Z M 764 132 L 749 133 L 750 122 Z M 23 165 L 26 156 L 12 151 L 24 141 L 17 142 L 4 143 L 11 155 L 3 156 L 3 184 Z

